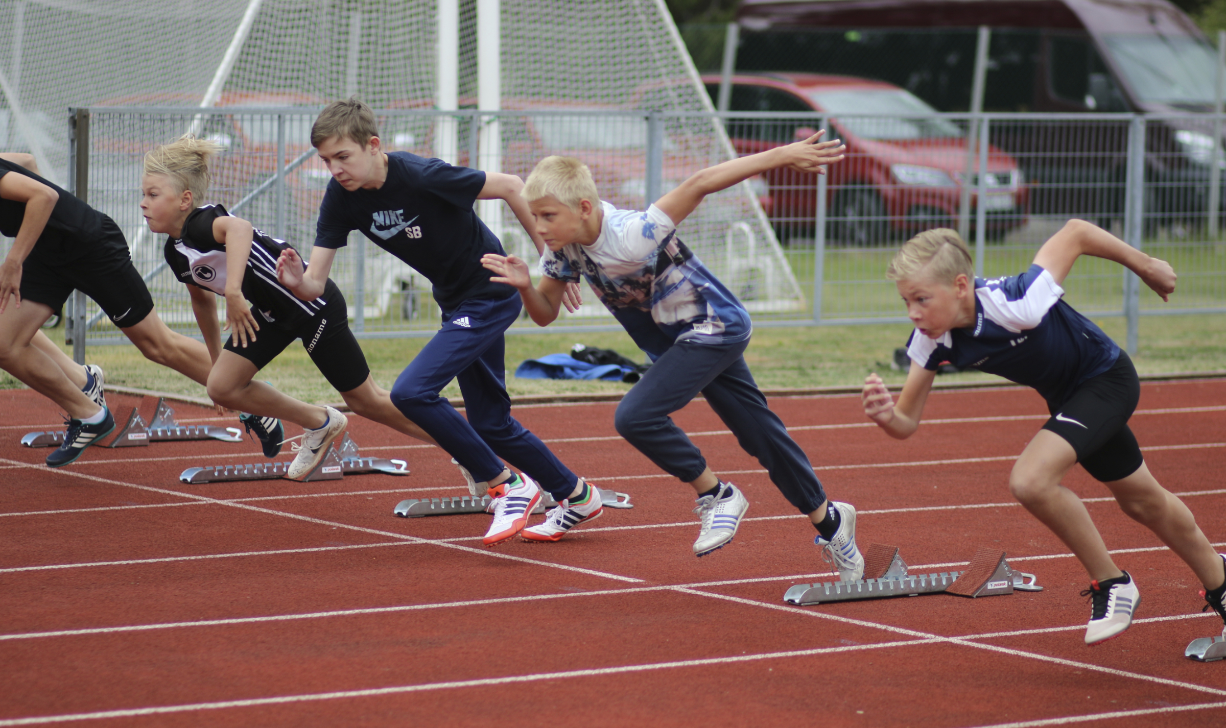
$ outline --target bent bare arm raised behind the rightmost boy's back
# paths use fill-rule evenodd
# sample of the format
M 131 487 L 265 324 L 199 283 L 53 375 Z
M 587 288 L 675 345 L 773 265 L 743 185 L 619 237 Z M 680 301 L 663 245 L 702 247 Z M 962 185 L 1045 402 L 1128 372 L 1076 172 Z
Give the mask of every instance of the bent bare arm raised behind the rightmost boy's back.
M 1084 219 L 1070 219 L 1052 235 L 1035 255 L 1035 265 L 1052 275 L 1057 283 L 1073 270 L 1073 264 L 1083 255 L 1105 257 L 1127 267 L 1155 293 L 1167 300 L 1175 293 L 1175 281 L 1178 278 L 1175 268 L 1165 260 L 1150 257 L 1128 243 Z

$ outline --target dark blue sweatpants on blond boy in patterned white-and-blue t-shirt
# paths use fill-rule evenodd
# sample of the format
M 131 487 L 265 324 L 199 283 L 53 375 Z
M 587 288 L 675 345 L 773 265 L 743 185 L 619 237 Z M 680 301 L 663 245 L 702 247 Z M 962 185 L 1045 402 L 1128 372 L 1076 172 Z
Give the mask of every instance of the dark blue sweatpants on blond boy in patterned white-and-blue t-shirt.
M 825 502 L 826 494 L 809 457 L 766 407 L 766 397 L 745 364 L 748 346 L 748 339 L 672 344 L 622 398 L 614 420 L 617 431 L 661 469 L 690 483 L 706 469 L 706 458 L 668 415 L 702 392 L 741 449 L 766 468 L 783 498 L 802 514 L 812 514 Z

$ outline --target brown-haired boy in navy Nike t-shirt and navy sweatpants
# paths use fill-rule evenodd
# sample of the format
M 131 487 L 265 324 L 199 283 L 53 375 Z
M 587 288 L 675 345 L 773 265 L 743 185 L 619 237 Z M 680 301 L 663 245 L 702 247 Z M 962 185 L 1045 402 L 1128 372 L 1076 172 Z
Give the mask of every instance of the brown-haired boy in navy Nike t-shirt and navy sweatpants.
M 408 152 L 385 153 L 374 113 L 357 98 L 325 108 L 311 127 L 311 143 L 332 180 L 320 205 L 310 266 L 304 270 L 302 259 L 286 250 L 277 261 L 281 282 L 304 300 L 319 297 L 349 230 L 413 266 L 434 286 L 443 327 L 401 373 L 391 400 L 472 476 L 473 494 L 481 484 L 493 496 L 494 521 L 484 544 L 524 529 L 541 500 L 537 483 L 558 502 L 569 500 L 588 520 L 597 517 L 600 491 L 511 417 L 504 389 L 503 332 L 519 317 L 521 304 L 514 288 L 492 283 L 481 265 L 482 255 L 501 254 L 503 245 L 473 203 L 505 200 L 541 250 L 520 197 L 524 183 Z M 467 419 L 439 396 L 452 379 L 463 393 Z

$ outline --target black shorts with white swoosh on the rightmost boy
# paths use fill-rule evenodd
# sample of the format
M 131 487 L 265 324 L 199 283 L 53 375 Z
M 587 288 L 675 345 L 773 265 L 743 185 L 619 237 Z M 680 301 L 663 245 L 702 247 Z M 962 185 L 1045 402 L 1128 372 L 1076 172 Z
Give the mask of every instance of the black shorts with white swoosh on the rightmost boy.
M 1062 407 L 1048 407 L 1052 417 L 1043 429 L 1068 440 L 1078 462 L 1096 480 L 1122 480 L 1144 462 L 1128 428 L 1140 396 L 1133 360 L 1121 351 L 1111 369 L 1079 386 Z

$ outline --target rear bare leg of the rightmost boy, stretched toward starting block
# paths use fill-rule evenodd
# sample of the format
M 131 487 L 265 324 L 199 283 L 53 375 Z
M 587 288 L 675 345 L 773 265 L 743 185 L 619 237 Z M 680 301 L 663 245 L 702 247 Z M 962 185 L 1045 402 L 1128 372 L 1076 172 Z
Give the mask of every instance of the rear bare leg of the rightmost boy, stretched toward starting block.
M 1192 567 L 1205 588 L 1215 590 L 1226 581 L 1222 559 L 1197 526 L 1192 511 L 1159 484 L 1145 463 L 1123 480 L 1105 485 L 1111 489 L 1124 514 L 1171 547 Z

